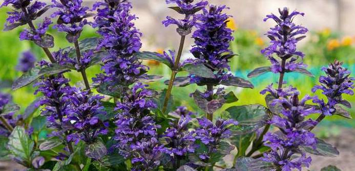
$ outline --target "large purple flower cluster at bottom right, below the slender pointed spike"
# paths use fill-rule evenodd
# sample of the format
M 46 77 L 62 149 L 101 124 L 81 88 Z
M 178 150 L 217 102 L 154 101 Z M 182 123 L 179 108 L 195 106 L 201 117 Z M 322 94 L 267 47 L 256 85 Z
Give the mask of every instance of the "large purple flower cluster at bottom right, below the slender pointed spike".
M 309 95 L 299 100 L 299 92 L 294 88 L 288 91 L 291 94 L 280 96 L 272 101 L 272 105 L 282 106 L 280 115 L 275 114 L 269 124 L 280 129 L 281 132 L 268 132 L 264 135 L 264 145 L 272 151 L 264 153 L 263 160 L 274 163 L 283 171 L 302 166 L 309 166 L 311 158 L 300 150 L 301 146 L 316 148 L 317 140 L 309 128 L 317 125 L 317 122 L 305 117 L 312 113 L 319 113 L 314 107 L 308 107 L 305 103 L 312 99 Z M 276 91 L 276 90 L 274 90 Z M 295 155 L 300 153 L 301 156 Z

